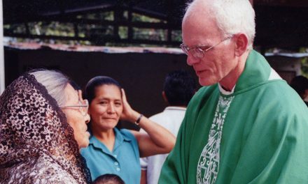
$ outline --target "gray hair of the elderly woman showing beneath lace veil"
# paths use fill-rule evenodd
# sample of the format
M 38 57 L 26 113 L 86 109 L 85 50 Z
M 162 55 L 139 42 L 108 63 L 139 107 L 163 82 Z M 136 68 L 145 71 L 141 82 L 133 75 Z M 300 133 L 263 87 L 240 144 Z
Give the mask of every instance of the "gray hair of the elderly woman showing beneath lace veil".
M 48 93 L 52 98 L 55 98 L 59 106 L 65 104 L 66 95 L 64 89 L 70 82 L 69 77 L 55 70 L 35 70 L 29 73 L 34 75 L 36 80 L 45 86 Z

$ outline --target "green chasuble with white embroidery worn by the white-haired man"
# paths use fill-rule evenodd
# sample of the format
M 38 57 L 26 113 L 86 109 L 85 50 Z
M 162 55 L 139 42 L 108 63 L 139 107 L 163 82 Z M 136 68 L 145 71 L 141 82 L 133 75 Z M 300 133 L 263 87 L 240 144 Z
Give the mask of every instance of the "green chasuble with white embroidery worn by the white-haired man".
M 254 50 L 235 89 L 190 101 L 159 183 L 308 183 L 308 108 Z

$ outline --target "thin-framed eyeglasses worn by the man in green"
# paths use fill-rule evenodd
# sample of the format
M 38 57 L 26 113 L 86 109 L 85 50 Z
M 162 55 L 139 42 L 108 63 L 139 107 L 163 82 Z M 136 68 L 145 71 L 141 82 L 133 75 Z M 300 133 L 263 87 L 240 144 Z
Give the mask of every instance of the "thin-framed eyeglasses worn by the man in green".
M 214 47 L 216 47 L 217 45 L 219 45 L 220 43 L 223 43 L 225 40 L 229 40 L 230 38 L 232 38 L 232 36 L 229 36 L 223 40 L 221 40 L 221 42 L 217 43 L 216 45 L 213 45 L 207 49 L 203 49 L 205 46 L 194 46 L 194 47 L 188 47 L 187 45 L 185 45 L 184 43 L 182 43 L 180 45 L 181 49 L 183 50 L 183 52 L 188 55 L 188 52 L 190 52 L 195 58 L 199 58 L 202 59 L 204 57 L 204 53 L 209 51 L 210 49 L 213 49 Z

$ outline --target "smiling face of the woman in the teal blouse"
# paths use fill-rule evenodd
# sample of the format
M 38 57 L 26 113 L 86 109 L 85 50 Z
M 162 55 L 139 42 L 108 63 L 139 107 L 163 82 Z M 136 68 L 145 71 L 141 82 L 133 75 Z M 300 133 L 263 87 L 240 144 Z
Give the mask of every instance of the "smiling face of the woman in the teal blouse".
M 108 131 L 117 125 L 123 112 L 122 96 L 118 86 L 97 86 L 95 97 L 89 107 L 92 130 Z

